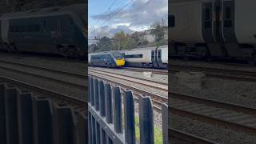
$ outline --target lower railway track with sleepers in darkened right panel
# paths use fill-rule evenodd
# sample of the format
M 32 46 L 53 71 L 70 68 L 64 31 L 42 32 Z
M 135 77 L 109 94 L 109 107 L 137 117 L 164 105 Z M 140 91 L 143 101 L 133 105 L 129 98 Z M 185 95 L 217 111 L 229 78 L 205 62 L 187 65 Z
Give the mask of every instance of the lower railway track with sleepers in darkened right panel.
M 256 134 L 256 109 L 190 95 L 171 93 L 171 114 Z

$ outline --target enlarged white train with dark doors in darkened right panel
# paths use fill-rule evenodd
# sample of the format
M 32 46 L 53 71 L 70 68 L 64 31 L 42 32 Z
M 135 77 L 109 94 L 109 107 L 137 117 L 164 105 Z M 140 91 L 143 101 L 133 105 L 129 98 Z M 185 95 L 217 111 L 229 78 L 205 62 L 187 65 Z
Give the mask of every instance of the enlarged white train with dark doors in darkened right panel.
M 169 6 L 172 57 L 256 63 L 256 1 L 172 0 Z

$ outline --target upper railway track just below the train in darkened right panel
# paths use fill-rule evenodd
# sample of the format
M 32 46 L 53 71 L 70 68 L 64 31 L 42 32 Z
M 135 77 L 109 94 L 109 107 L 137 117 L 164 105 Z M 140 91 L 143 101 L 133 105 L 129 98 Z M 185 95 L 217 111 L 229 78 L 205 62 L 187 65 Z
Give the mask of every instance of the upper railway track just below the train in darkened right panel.
M 182 65 L 182 64 L 170 64 L 170 72 L 179 71 L 200 71 L 206 73 L 206 75 L 214 78 L 226 78 L 238 81 L 256 82 L 256 72 L 249 70 L 235 70 L 225 68 L 214 68 L 210 66 L 195 66 L 195 65 Z

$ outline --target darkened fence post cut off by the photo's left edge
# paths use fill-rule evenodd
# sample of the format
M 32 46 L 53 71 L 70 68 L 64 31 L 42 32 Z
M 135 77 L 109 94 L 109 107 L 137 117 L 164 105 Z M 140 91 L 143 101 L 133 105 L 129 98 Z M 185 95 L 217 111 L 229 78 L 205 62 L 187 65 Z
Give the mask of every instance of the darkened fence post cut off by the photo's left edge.
M 0 143 L 6 143 L 6 84 L 0 83 Z

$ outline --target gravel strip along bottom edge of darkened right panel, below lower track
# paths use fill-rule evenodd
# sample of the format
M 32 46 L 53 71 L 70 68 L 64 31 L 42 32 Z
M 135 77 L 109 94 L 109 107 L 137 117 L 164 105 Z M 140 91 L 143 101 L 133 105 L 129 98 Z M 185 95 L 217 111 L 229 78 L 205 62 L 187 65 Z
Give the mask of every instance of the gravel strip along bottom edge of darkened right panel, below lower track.
M 245 134 L 240 131 L 225 129 L 223 127 L 199 122 L 190 118 L 171 115 L 169 127 L 186 131 L 190 134 L 198 135 L 210 139 L 214 142 L 225 144 L 254 144 L 256 143 L 255 134 Z

